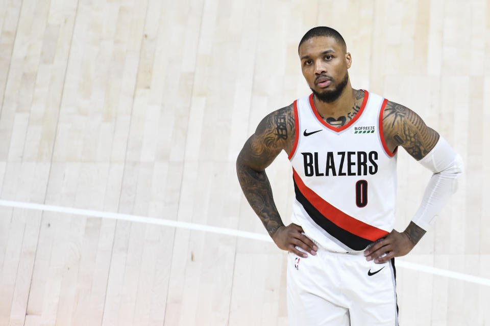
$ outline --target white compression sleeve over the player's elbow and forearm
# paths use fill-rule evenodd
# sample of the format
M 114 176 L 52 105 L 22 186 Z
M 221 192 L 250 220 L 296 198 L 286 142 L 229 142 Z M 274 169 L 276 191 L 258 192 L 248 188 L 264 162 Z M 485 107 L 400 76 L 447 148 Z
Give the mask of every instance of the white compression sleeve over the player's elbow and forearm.
M 440 209 L 456 192 L 457 179 L 463 172 L 463 161 L 442 137 L 434 148 L 419 161 L 434 174 L 427 185 L 422 204 L 412 218 L 412 222 L 427 230 L 434 223 Z

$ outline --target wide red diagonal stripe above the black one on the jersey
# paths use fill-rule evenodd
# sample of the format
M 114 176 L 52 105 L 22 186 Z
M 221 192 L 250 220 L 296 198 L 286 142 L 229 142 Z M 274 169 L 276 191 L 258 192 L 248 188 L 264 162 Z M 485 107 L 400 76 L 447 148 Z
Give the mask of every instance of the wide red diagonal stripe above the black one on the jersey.
M 314 191 L 308 188 L 301 180 L 301 177 L 292 169 L 292 177 L 295 179 L 296 185 L 305 198 L 315 207 L 326 219 L 338 227 L 349 231 L 352 234 L 360 236 L 364 239 L 376 241 L 377 239 L 388 234 L 387 231 L 378 229 L 372 225 L 359 221 L 352 216 L 342 212 L 340 209 L 332 206 L 322 197 L 318 196 Z

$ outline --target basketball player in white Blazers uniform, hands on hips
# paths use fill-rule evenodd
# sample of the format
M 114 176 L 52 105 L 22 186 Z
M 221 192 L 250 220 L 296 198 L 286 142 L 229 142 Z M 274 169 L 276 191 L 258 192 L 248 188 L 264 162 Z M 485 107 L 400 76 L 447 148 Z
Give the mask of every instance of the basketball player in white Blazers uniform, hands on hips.
M 421 239 L 456 189 L 462 162 L 409 108 L 351 87 L 340 34 L 316 27 L 298 53 L 312 94 L 267 115 L 236 161 L 243 193 L 289 251 L 291 325 L 397 325 L 394 257 Z M 419 210 L 393 229 L 397 148 L 433 172 Z M 296 199 L 285 226 L 264 169 L 288 154 Z

